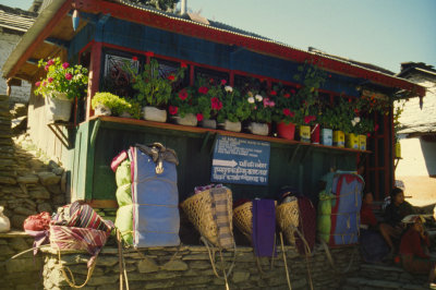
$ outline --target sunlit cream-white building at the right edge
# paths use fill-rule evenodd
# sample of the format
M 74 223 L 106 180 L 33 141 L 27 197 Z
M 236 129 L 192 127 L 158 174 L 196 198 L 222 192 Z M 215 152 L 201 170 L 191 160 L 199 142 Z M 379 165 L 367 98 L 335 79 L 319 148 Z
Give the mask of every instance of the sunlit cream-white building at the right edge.
M 425 63 L 401 63 L 397 75 L 427 88 L 425 97 L 405 102 L 398 137 L 401 157 L 396 179 L 402 180 L 405 195 L 415 205 L 436 203 L 436 70 Z M 401 105 L 396 105 L 401 106 Z

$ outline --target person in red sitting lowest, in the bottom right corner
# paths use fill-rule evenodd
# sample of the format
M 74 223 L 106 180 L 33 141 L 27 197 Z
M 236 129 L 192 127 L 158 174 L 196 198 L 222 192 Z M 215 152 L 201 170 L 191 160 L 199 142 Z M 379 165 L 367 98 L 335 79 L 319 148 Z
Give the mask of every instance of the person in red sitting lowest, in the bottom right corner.
M 412 227 L 402 235 L 400 255 L 403 268 L 412 274 L 428 274 L 431 288 L 435 289 L 436 263 L 431 261 L 428 233 L 421 216 L 414 218 Z

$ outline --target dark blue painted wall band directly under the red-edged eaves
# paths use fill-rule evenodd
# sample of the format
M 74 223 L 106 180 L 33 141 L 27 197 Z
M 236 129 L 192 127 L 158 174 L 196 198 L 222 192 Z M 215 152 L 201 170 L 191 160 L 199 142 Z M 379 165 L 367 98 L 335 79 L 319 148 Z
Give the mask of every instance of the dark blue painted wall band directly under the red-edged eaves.
M 185 61 L 295 82 L 293 75 L 296 73 L 296 68 L 299 67 L 296 62 L 113 17 L 98 20 L 96 16 L 89 15 L 88 20 L 89 24 L 70 44 L 70 59 L 94 39 L 95 41 L 131 49 L 153 51 L 157 55 Z M 329 74 L 331 77 L 327 80 L 322 88 L 338 94 L 360 96 L 355 86 L 362 80 L 334 73 Z

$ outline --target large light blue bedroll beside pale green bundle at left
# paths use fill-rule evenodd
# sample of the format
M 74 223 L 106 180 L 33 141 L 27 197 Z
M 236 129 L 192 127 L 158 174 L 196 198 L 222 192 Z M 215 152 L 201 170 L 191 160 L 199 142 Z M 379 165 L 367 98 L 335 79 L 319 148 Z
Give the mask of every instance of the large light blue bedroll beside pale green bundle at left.
M 179 245 L 179 193 L 175 165 L 162 161 L 164 172 L 156 173 L 152 157 L 132 147 L 133 245 L 135 247 Z

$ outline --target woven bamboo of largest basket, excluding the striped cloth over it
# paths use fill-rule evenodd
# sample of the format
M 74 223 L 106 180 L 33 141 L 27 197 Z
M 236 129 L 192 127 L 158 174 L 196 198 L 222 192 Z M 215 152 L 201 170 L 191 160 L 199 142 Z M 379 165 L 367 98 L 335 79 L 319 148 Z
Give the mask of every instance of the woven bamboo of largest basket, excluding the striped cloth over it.
M 227 190 L 227 207 L 229 208 L 230 229 L 233 230 L 232 222 L 232 192 Z M 214 220 L 214 213 L 211 208 L 210 190 L 206 190 L 194 194 L 186 198 L 181 207 L 186 214 L 189 220 L 195 226 L 199 233 L 206 238 L 215 246 L 219 246 L 218 242 L 218 227 Z

